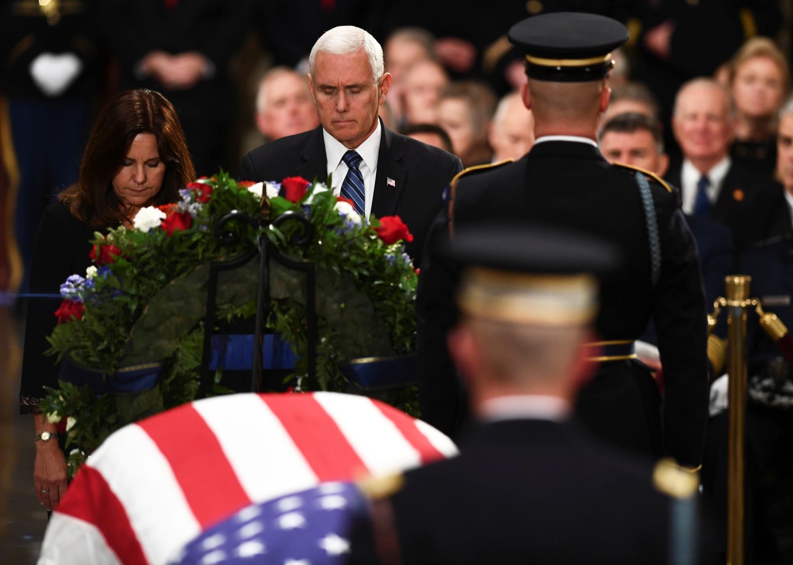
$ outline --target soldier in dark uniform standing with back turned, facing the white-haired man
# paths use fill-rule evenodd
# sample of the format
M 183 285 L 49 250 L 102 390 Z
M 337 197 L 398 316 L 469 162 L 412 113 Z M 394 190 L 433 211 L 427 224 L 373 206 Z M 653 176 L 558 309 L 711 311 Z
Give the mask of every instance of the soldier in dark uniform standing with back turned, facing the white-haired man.
M 611 90 L 611 51 L 626 28 L 588 13 L 531 17 L 509 32 L 526 52 L 521 94 L 536 141 L 516 162 L 463 171 L 436 220 L 419 277 L 419 393 L 422 417 L 454 435 L 465 392 L 446 334 L 457 320 L 459 266 L 438 243 L 484 220 L 574 229 L 617 246 L 623 266 L 603 284 L 591 358 L 596 375 L 577 398 L 577 416 L 596 436 L 634 452 L 698 468 L 707 426 L 707 321 L 691 232 L 676 195 L 649 171 L 609 164 L 596 143 Z M 665 399 L 637 360 L 634 340 L 653 319 Z M 661 414 L 663 412 L 663 414 Z

